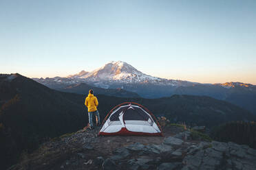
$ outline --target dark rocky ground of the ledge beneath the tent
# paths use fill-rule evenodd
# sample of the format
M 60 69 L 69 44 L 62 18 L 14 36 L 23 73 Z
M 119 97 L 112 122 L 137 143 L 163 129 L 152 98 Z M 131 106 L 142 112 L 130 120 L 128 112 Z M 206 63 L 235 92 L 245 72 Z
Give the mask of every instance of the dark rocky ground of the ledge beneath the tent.
M 184 127 L 164 136 L 98 136 L 81 130 L 54 138 L 10 169 L 256 169 L 256 150 L 246 145 L 195 140 Z

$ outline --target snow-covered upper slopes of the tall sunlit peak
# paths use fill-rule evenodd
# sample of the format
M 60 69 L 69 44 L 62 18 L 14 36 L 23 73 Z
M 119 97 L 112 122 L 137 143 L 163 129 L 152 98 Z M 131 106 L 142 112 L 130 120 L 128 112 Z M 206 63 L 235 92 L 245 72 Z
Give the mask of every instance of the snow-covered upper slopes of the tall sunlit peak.
M 183 86 L 185 84 L 191 84 L 191 82 L 179 81 L 179 80 L 167 80 L 159 77 L 153 77 L 138 71 L 127 64 L 127 62 L 109 62 L 100 68 L 80 73 L 67 78 L 85 80 L 86 82 L 109 82 L 109 83 L 151 83 L 151 84 L 165 84 L 171 86 Z

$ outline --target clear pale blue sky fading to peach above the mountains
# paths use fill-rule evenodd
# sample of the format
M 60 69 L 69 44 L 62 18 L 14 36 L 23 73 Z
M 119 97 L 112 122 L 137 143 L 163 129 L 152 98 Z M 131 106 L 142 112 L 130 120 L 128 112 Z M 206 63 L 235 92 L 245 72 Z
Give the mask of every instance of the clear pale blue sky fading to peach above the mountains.
M 0 0 L 0 73 L 66 76 L 112 60 L 169 79 L 256 84 L 256 1 Z

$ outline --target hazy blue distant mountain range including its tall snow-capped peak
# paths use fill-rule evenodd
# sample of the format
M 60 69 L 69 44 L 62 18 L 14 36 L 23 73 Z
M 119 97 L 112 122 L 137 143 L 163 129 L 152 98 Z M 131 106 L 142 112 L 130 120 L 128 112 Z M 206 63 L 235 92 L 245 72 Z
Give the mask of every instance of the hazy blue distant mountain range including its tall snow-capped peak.
M 94 86 L 106 89 L 122 88 L 137 93 L 144 98 L 169 97 L 175 94 L 206 95 L 237 104 L 237 106 L 246 108 L 256 114 L 256 86 L 253 84 L 241 82 L 200 84 L 182 80 L 167 80 L 142 73 L 134 66 L 121 61 L 109 62 L 94 71 L 81 71 L 67 77 L 34 78 L 33 80 L 57 90 L 67 89 L 67 86 L 70 85 L 74 88 L 81 83 L 89 84 L 92 88 Z M 87 88 L 85 89 L 78 91 L 70 89 L 70 92 L 84 93 L 84 91 L 87 91 Z M 107 93 L 99 94 L 109 95 Z M 133 95 L 131 94 L 131 96 Z

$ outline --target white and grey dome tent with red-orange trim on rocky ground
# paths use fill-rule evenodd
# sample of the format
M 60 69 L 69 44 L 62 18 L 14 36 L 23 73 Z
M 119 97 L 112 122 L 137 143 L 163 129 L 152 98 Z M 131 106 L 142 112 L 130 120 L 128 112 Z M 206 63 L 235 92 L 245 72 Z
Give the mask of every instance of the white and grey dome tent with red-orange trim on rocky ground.
M 162 136 L 162 129 L 147 108 L 134 102 L 125 102 L 107 114 L 98 134 Z

